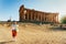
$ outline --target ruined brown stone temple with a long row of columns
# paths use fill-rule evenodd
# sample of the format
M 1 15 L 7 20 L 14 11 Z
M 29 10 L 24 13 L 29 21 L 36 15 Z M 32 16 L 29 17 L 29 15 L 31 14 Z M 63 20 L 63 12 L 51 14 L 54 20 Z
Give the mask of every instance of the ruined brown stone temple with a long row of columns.
M 40 22 L 58 22 L 58 13 L 42 12 L 34 9 L 20 7 L 20 21 L 40 21 Z

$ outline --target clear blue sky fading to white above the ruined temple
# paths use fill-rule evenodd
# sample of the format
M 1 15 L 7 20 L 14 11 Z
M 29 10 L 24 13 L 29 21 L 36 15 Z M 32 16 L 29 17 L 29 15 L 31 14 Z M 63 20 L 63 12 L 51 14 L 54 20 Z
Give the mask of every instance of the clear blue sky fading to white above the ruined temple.
M 58 19 L 66 16 L 66 0 L 0 0 L 0 21 L 19 21 L 19 9 L 25 8 L 44 12 L 58 12 Z

